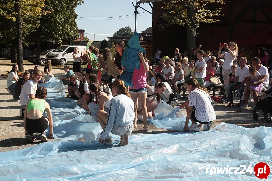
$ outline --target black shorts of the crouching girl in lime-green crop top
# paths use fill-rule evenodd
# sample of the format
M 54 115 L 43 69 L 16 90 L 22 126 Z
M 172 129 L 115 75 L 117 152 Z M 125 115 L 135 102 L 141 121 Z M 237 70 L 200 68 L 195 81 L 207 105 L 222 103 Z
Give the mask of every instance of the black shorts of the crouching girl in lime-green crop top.
M 42 116 L 39 119 L 26 118 L 26 130 L 29 134 L 42 133 L 48 128 L 48 121 Z

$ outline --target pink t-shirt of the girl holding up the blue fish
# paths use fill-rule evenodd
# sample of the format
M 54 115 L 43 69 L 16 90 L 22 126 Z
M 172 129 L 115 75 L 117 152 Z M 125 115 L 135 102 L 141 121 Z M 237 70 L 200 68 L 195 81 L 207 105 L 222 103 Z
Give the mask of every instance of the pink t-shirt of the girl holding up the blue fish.
M 146 64 L 147 66 L 149 66 L 147 62 Z M 135 68 L 132 82 L 133 82 L 133 87 L 129 87 L 129 89 L 140 89 L 140 88 L 146 87 L 146 71 L 144 70 L 144 65 L 142 62 L 140 63 L 139 70 Z

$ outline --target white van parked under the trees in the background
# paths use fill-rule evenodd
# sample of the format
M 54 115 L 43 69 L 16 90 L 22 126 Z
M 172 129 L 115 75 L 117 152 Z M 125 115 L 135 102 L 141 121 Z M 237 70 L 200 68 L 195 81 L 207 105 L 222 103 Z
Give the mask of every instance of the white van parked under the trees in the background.
M 51 52 L 46 60 L 50 59 L 52 61 L 52 64 L 60 64 L 65 65 L 66 63 L 73 62 L 73 51 L 75 46 L 78 47 L 79 54 L 82 52 L 82 55 L 84 55 L 83 50 L 86 48 L 86 46 L 82 45 L 61 45 L 58 46 L 53 52 Z

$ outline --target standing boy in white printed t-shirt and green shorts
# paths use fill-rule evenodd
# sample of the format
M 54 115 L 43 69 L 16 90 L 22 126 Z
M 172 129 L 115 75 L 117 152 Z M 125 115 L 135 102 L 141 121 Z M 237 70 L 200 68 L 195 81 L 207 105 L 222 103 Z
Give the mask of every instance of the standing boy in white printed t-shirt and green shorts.
M 203 59 L 204 56 L 204 51 L 199 50 L 197 52 L 197 58 L 199 59 L 195 64 L 194 64 L 194 76 L 199 83 L 199 85 L 204 86 L 204 78 L 206 77 L 206 62 Z

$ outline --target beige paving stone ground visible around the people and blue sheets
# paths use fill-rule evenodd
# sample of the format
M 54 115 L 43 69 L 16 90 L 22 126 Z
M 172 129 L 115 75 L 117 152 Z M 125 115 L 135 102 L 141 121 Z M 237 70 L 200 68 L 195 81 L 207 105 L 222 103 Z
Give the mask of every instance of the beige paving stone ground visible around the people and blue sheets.
M 24 69 L 33 69 L 33 66 L 24 65 Z M 10 65 L 0 65 L 0 74 L 5 74 L 11 70 Z M 44 66 L 41 66 L 44 69 Z M 61 68 L 53 68 L 52 74 L 56 78 L 66 77 L 66 72 Z M 14 101 L 10 93 L 7 92 L 6 86 L 7 76 L 0 76 L 0 152 L 18 150 L 36 144 L 41 143 L 39 135 L 37 135 L 36 140 L 32 143 L 25 142 L 25 133 L 23 127 L 23 119 L 20 117 L 19 113 L 19 101 Z M 180 106 L 184 100 L 179 101 L 177 106 Z M 238 102 L 238 98 L 234 98 L 234 102 Z M 249 103 L 251 107 L 254 103 Z M 212 128 L 219 125 L 222 122 L 236 124 L 239 126 L 244 126 L 246 128 L 254 128 L 258 126 L 271 127 L 272 123 L 265 123 L 262 119 L 262 113 L 259 113 L 259 120 L 254 121 L 251 110 L 241 110 L 239 107 L 227 107 L 227 104 L 214 104 L 215 113 L 217 120 L 212 124 Z M 182 110 L 184 115 L 186 115 L 185 109 Z M 132 135 L 143 134 L 141 130 L 143 129 L 143 122 L 137 123 L 138 128 L 132 131 Z M 171 133 L 177 131 L 171 131 L 166 129 L 155 128 L 153 125 L 149 124 L 149 132 L 145 134 L 158 134 L 158 133 Z M 48 139 L 49 141 L 56 141 L 55 139 Z M 79 141 L 84 141 L 83 138 Z

